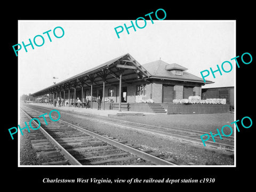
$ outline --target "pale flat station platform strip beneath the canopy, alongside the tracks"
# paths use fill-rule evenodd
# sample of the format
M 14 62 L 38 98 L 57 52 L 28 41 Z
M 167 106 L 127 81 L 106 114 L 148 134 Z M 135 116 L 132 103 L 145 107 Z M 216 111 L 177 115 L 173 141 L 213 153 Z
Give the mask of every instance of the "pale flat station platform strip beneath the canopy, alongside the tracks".
M 61 106 L 61 107 L 54 107 L 53 105 L 43 104 L 43 103 L 28 103 L 28 105 L 35 105 L 40 107 L 46 107 L 50 109 L 57 109 L 59 111 L 71 111 L 76 113 L 82 114 L 89 114 L 89 115 L 98 115 L 98 116 L 144 116 L 144 115 L 156 115 L 155 113 L 146 113 L 146 112 L 136 112 L 136 111 L 118 111 L 118 110 L 97 110 L 91 108 L 78 108 L 78 107 L 68 107 L 68 106 Z

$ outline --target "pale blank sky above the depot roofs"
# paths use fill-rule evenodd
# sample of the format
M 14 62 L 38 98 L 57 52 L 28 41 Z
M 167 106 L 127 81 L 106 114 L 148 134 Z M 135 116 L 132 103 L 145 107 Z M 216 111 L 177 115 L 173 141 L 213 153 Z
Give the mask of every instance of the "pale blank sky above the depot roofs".
M 36 35 L 44 37 L 42 46 L 29 45 L 18 51 L 19 94 L 40 91 L 53 82 L 63 81 L 85 70 L 91 69 L 123 54 L 130 53 L 141 65 L 161 60 L 167 63 L 178 63 L 188 68 L 187 72 L 201 77 L 203 70 L 217 69 L 224 61 L 233 63 L 230 73 L 215 73 L 206 80 L 215 83 L 202 86 L 223 87 L 235 84 L 235 21 L 184 21 L 184 20 L 147 20 L 143 29 L 135 26 L 119 34 L 115 27 L 131 26 L 131 20 L 20 20 L 17 44 L 29 44 Z M 135 23 L 135 21 L 133 21 Z M 143 26 L 143 20 L 138 22 Z M 135 25 L 135 24 L 134 24 Z M 61 38 L 53 35 L 56 27 L 62 27 L 65 34 Z M 52 42 L 45 31 L 49 31 Z M 119 29 L 118 29 L 119 30 Z M 55 30 L 57 36 L 62 31 Z M 40 37 L 37 44 L 42 44 Z M 15 55 L 15 53 L 13 52 Z M 225 67 L 228 70 L 228 66 Z M 57 77 L 57 79 L 53 79 Z

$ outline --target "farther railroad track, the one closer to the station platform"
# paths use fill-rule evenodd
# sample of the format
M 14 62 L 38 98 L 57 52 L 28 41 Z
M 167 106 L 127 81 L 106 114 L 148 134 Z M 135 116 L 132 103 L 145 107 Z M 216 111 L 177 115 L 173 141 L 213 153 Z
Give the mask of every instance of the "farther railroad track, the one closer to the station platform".
M 33 106 L 36 108 L 42 108 L 45 109 L 47 107 L 39 107 L 39 106 Z M 183 141 L 188 141 L 188 142 L 193 142 L 198 145 L 203 145 L 202 140 L 200 136 L 202 134 L 209 134 L 206 132 L 202 131 L 194 131 L 194 130 L 187 130 L 187 129 L 181 129 L 178 127 L 171 127 L 171 126 L 156 126 L 156 125 L 149 125 L 149 124 L 143 124 L 143 123 L 135 123 L 135 122 L 129 122 L 129 121 L 124 121 L 120 119 L 114 119 L 114 118 L 109 118 L 109 117 L 102 117 L 102 116 L 93 116 L 93 115 L 87 115 L 87 114 L 81 114 L 77 112 L 70 112 L 70 111 L 65 111 L 59 109 L 62 113 L 73 113 L 76 114 L 76 116 L 81 117 L 86 119 L 87 121 L 98 121 L 106 124 L 110 124 L 112 126 L 117 126 L 118 127 L 124 127 L 126 129 L 133 129 L 133 130 L 138 130 L 138 131 L 143 131 L 147 133 L 152 133 L 152 134 L 158 134 L 164 137 L 169 137 L 169 138 L 174 138 L 174 139 L 179 139 Z M 213 147 L 213 148 L 218 148 L 218 149 L 223 149 L 223 150 L 228 150 L 228 151 L 234 151 L 234 137 L 228 137 L 220 139 L 219 137 L 215 137 L 215 140 L 217 142 L 213 141 L 205 141 L 207 147 Z

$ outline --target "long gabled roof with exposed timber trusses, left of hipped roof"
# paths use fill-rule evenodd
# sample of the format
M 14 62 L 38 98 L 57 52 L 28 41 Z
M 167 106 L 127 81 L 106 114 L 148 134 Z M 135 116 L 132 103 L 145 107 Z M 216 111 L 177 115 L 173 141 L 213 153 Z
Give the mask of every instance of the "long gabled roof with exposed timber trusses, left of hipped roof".
M 91 84 L 90 76 L 93 78 L 93 85 L 103 84 L 103 71 L 108 71 L 105 74 L 105 81 L 108 84 L 119 83 L 119 71 L 116 67 L 116 64 L 137 67 L 136 70 L 128 68 L 123 72 L 123 82 L 132 81 L 131 79 L 139 80 L 148 78 L 150 76 L 148 71 L 143 68 L 138 61 L 136 61 L 129 53 L 126 53 L 115 59 L 102 63 L 101 65 L 83 71 L 82 73 L 79 73 L 75 76 L 69 77 L 57 84 L 46 87 L 43 90 L 37 91 L 33 93 L 33 95 L 38 95 L 45 91 L 53 91 L 54 89 L 67 89 L 68 86 L 81 87 L 82 84 L 85 84 L 84 86 L 89 86 Z

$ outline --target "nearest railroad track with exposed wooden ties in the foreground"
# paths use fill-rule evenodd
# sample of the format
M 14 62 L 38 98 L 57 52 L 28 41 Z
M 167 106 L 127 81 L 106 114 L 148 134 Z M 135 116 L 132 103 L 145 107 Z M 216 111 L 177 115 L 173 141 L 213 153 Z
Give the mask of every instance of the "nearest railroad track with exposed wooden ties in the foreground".
M 27 122 L 44 114 L 30 107 L 22 107 L 21 113 Z M 28 133 L 42 165 L 177 165 L 73 123 L 45 119 L 47 125 L 42 119 L 40 128 Z

